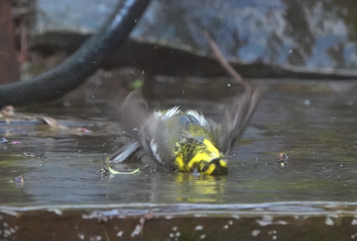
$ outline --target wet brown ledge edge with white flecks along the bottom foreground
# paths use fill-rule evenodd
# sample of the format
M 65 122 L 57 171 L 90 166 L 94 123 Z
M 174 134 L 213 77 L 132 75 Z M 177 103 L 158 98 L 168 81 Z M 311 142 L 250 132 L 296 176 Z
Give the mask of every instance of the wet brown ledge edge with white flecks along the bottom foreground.
M 0 206 L 1 240 L 353 240 L 357 203 Z

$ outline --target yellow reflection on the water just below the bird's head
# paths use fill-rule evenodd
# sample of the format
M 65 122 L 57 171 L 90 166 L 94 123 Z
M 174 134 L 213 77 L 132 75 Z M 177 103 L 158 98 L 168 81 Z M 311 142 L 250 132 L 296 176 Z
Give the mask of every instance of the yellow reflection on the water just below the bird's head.
M 225 193 L 227 177 L 211 175 L 195 176 L 191 173 L 179 172 L 175 178 L 177 187 L 176 201 L 202 203 L 217 202 Z

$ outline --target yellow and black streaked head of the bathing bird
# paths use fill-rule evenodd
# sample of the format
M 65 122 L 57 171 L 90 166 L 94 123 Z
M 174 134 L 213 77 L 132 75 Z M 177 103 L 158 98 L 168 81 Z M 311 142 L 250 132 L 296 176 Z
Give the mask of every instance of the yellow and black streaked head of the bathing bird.
M 198 141 L 184 138 L 176 143 L 174 149 L 174 165 L 182 172 L 193 172 L 195 169 L 206 175 L 220 175 L 228 172 L 227 162 L 223 155 L 204 139 Z

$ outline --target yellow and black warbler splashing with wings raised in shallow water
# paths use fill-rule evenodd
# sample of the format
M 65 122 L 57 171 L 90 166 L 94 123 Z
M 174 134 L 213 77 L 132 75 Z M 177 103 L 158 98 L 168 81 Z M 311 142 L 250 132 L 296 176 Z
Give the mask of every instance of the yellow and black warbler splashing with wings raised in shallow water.
M 225 174 L 228 169 L 224 155 L 241 137 L 259 97 L 260 91 L 247 85 L 225 105 L 222 120 L 215 122 L 195 110 L 181 111 L 177 106 L 151 111 L 140 90 L 135 90 L 120 110 L 122 123 L 134 141 L 110 159 L 120 162 L 142 153 L 172 171 Z

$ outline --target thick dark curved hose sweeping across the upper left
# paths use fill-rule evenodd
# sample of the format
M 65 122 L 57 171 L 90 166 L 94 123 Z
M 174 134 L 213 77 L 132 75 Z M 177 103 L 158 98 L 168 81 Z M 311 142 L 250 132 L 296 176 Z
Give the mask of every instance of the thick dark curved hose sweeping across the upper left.
M 120 2 L 104 27 L 57 67 L 29 80 L 0 85 L 0 108 L 54 100 L 84 82 L 125 42 L 150 0 Z

